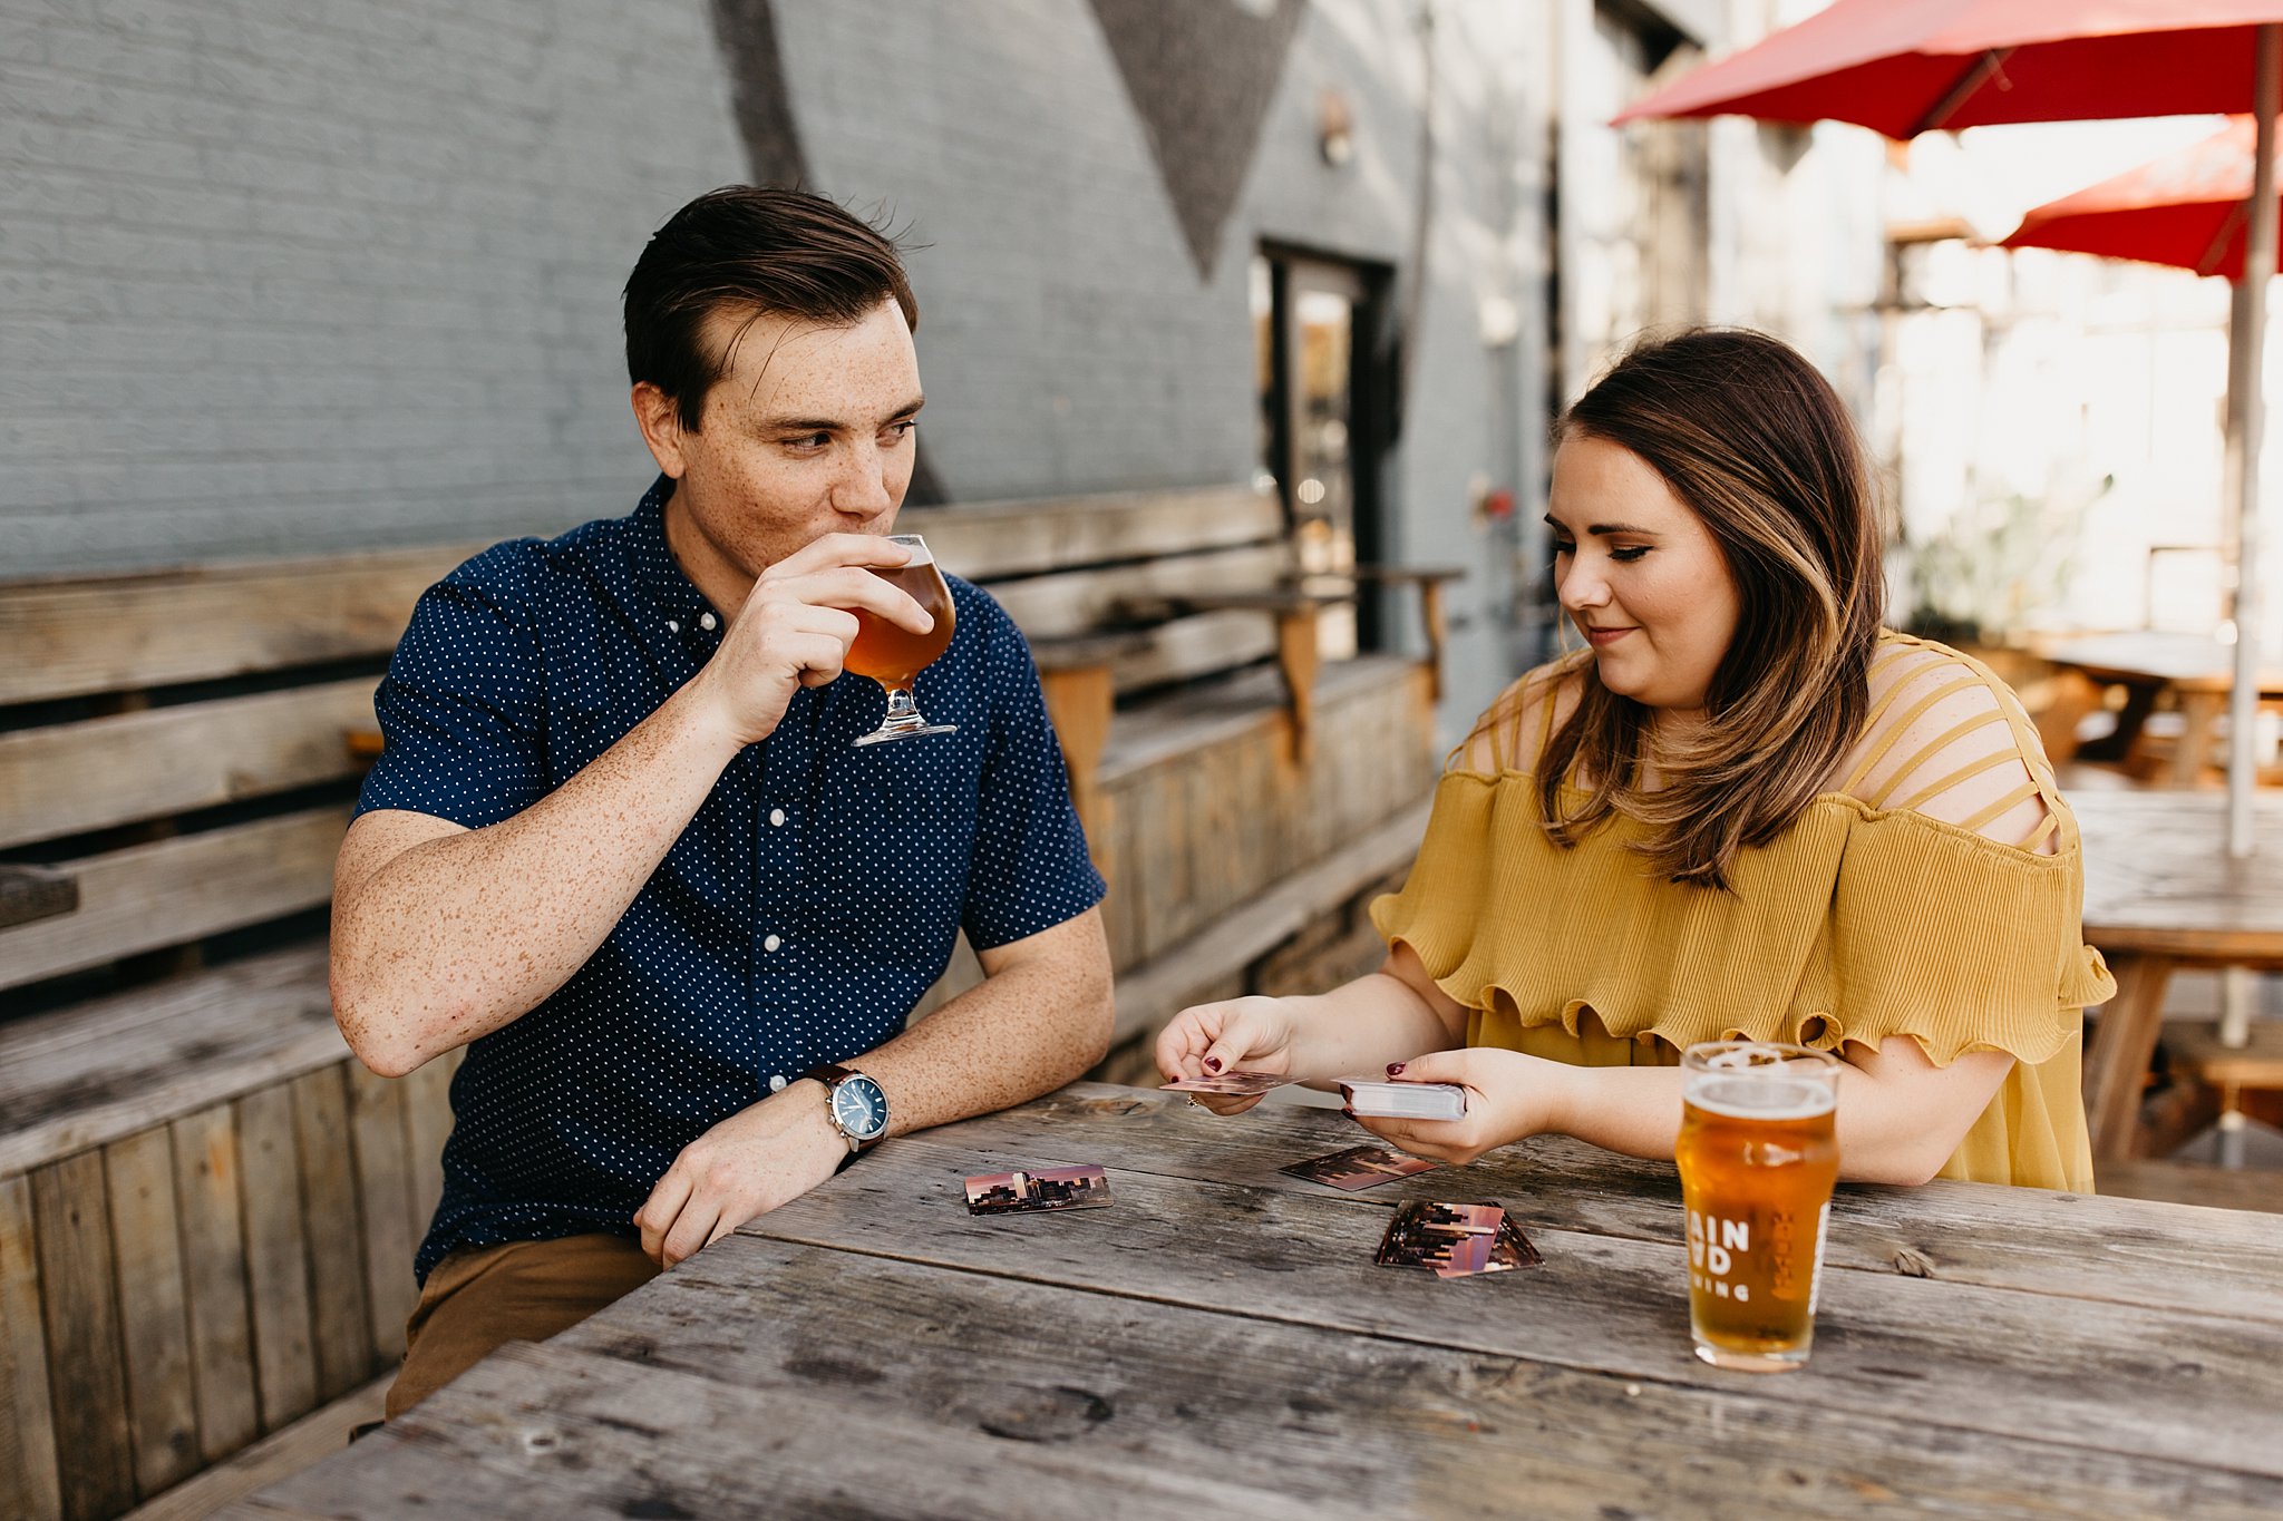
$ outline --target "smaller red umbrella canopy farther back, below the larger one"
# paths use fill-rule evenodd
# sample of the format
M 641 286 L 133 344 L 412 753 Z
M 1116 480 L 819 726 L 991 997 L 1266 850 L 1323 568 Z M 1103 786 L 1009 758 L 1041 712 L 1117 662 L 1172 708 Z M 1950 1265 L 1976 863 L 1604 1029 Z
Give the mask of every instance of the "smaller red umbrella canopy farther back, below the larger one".
M 2004 249 L 2059 249 L 2244 278 L 2253 137 L 2237 116 L 2215 137 L 2030 210 Z

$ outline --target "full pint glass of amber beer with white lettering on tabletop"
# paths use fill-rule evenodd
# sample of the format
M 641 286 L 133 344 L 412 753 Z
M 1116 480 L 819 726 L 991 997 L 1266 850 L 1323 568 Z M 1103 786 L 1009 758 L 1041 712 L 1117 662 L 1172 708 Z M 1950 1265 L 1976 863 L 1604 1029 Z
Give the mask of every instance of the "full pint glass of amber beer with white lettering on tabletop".
M 1824 1220 L 1840 1174 L 1838 1074 L 1826 1051 L 1753 1040 L 1680 1060 L 1680 1193 L 1689 1218 L 1689 1329 L 1717 1368 L 1808 1361 Z

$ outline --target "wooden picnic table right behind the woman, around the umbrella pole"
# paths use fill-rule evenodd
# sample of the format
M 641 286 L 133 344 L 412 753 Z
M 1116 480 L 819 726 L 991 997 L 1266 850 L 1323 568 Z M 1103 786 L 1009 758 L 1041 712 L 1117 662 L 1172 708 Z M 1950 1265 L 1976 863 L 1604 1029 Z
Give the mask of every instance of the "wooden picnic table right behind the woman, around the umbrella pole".
M 2135 1154 L 2141 1088 L 2178 967 L 2283 971 L 2283 796 L 2258 794 L 2260 851 L 2228 855 L 2228 803 L 2210 791 L 2068 798 L 2084 837 L 2084 942 L 2116 974 L 2084 1054 L 2094 1163 Z

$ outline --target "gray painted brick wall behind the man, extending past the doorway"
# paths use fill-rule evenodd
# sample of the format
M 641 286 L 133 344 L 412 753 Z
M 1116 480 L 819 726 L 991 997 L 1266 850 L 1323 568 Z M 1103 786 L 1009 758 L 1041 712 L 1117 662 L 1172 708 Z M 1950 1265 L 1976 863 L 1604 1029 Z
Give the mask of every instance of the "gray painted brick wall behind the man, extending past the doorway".
M 619 287 L 667 212 L 751 173 L 708 0 L 0 5 L 0 575 L 555 531 L 648 479 Z M 1411 258 L 1415 11 L 1308 5 L 1201 274 L 1084 0 L 779 0 L 810 185 L 927 244 L 922 449 L 952 499 L 1251 474 L 1258 239 Z M 1459 595 L 1454 714 L 1511 666 L 1511 545 L 1466 481 L 1527 499 L 1546 406 L 1532 340 L 1477 331 L 1486 296 L 1541 306 L 1530 11 L 1438 7 L 1390 513 L 1409 559 L 1491 570 Z

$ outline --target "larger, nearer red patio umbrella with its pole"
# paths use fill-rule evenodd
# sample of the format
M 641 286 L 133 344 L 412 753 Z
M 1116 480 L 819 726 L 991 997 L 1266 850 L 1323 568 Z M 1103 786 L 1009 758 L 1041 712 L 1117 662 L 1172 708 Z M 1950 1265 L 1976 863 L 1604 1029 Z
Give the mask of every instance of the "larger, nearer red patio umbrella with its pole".
M 2251 267 L 2276 260 L 2274 123 L 2283 0 L 1838 0 L 1687 73 L 1619 114 L 1852 121 L 1886 132 L 2020 121 L 2253 112 Z M 2251 853 L 2258 700 L 2258 358 L 2265 280 L 2237 285 L 2228 335 L 2228 479 L 2235 497 L 2235 691 L 2228 851 Z

